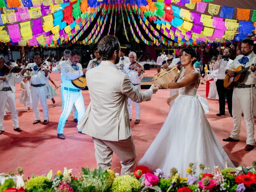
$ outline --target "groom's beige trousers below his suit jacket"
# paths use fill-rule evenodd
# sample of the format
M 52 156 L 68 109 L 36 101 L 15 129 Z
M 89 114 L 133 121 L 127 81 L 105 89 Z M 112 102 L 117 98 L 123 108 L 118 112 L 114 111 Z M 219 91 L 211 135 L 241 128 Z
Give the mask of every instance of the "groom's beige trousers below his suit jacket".
M 121 160 L 121 175 L 134 171 L 136 166 L 136 151 L 132 136 L 119 141 L 107 141 L 94 137 L 92 139 L 94 142 L 97 168 L 102 167 L 103 170 L 110 169 L 114 152 Z

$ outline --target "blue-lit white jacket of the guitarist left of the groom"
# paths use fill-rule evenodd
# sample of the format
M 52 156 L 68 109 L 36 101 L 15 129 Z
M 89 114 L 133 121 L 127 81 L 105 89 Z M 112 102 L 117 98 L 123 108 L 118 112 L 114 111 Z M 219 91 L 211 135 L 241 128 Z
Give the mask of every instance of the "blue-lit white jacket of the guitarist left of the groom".
M 72 80 L 83 76 L 84 72 L 82 71 L 82 65 L 80 63 L 77 63 L 76 65 L 78 66 L 79 70 L 74 70 L 74 68 L 72 67 L 72 63 L 69 59 L 62 63 L 61 78 L 62 85 L 64 87 L 78 89 L 72 84 Z

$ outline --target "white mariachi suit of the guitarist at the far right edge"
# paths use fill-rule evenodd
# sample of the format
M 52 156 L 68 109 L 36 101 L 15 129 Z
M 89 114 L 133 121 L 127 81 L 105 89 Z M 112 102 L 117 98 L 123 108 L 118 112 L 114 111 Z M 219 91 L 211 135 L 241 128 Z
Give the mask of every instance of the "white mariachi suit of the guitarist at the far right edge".
M 252 52 L 248 58 L 248 62 L 244 62 L 244 64 L 241 64 L 241 60 L 244 57 L 244 55 L 238 55 L 236 59 L 229 64 L 226 68 L 232 69 L 237 68 L 238 66 L 244 66 L 248 67 L 252 64 L 256 63 L 256 54 Z M 240 61 L 240 62 L 239 62 Z M 244 113 L 244 120 L 246 122 L 246 132 L 247 132 L 247 139 L 246 144 L 254 145 L 254 119 L 253 119 L 253 104 L 254 104 L 254 93 L 255 93 L 255 77 L 256 72 L 251 72 L 250 70 L 247 71 L 247 76 L 244 80 L 245 85 L 250 85 L 251 87 L 246 88 L 234 88 L 233 96 L 232 96 L 232 115 L 233 115 L 233 124 L 234 128 L 232 130 L 232 133 L 230 135 L 233 139 L 239 139 L 240 134 L 240 126 L 241 126 L 241 116 L 242 112 Z

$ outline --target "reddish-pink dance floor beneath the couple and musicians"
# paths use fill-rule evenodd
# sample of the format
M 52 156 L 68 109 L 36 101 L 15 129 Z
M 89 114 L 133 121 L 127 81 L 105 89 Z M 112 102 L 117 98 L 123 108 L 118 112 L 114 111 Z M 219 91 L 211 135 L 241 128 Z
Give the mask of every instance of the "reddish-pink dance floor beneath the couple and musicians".
M 146 75 L 153 76 L 156 69 L 146 70 Z M 50 74 L 54 82 L 60 84 L 60 74 Z M 90 136 L 79 134 L 76 123 L 70 114 L 64 134 L 66 140 L 57 138 L 57 126 L 60 114 L 62 112 L 62 101 L 60 88 L 55 96 L 56 103 L 52 104 L 48 100 L 49 123 L 42 124 L 42 108 L 40 108 L 41 123 L 33 125 L 33 112 L 26 112 L 26 108 L 19 104 L 20 84 L 16 84 L 16 102 L 22 132 L 15 132 L 12 128 L 11 114 L 4 117 L 5 131 L 0 135 L 0 173 L 14 171 L 18 166 L 24 168 L 25 176 L 31 174 L 47 174 L 53 169 L 54 174 L 57 170 L 63 170 L 64 167 L 73 168 L 73 173 L 80 172 L 81 167 L 96 168 L 96 159 L 94 157 L 94 145 Z M 90 102 L 88 90 L 83 90 L 84 103 L 87 107 Z M 205 85 L 200 85 L 198 94 L 205 97 Z M 135 110 L 133 108 L 133 118 L 131 121 L 132 136 L 136 145 L 137 159 L 143 156 L 156 134 L 159 132 L 164 120 L 168 114 L 169 106 L 166 99 L 169 96 L 169 90 L 160 89 L 152 96 L 149 102 L 141 104 L 141 121 L 135 125 Z M 230 115 L 218 117 L 218 101 L 208 100 L 210 112 L 206 114 L 214 132 L 220 143 L 224 147 L 228 156 L 235 166 L 250 166 L 253 160 L 256 160 L 256 149 L 246 152 L 246 128 L 242 120 L 240 142 L 223 142 L 222 138 L 230 135 L 233 128 L 232 118 Z M 226 109 L 226 114 L 228 110 Z M 159 149 L 161 150 L 161 149 Z M 173 157 L 175 158 L 175 157 Z M 184 165 L 187 166 L 187 165 Z M 112 168 L 120 172 L 120 162 L 116 155 L 113 156 Z

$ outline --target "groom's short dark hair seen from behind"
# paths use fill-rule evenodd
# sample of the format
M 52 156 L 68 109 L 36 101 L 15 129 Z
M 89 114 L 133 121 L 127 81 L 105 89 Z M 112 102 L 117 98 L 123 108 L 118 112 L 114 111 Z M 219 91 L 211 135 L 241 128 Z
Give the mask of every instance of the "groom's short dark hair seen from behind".
M 107 35 L 100 40 L 98 44 L 98 52 L 103 61 L 112 59 L 115 50 L 118 52 L 120 51 L 118 38 L 112 35 Z

